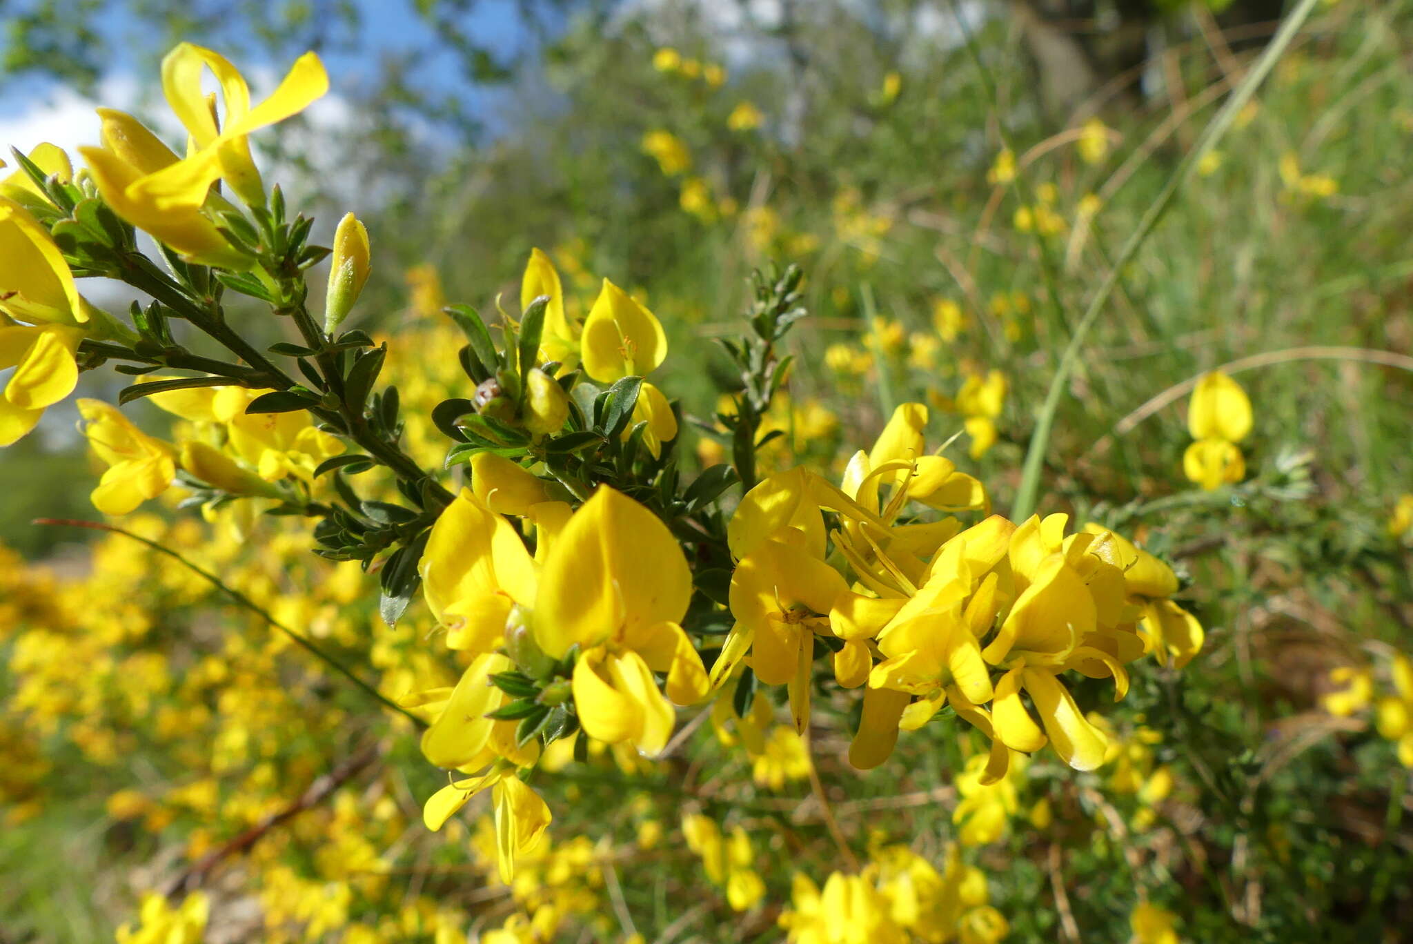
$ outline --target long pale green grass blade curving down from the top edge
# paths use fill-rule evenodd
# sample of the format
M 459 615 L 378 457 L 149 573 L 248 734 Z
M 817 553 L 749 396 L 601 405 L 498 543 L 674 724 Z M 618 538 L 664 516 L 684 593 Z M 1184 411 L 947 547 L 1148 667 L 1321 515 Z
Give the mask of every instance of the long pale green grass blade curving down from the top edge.
M 1123 270 L 1137 254 L 1139 249 L 1147 240 L 1149 233 L 1157 228 L 1160 219 L 1171 206 L 1173 198 L 1181 185 L 1191 177 L 1193 170 L 1197 163 L 1211 151 L 1222 136 L 1231 127 L 1232 122 L 1236 120 L 1236 113 L 1251 100 L 1252 95 L 1256 93 L 1256 86 L 1259 86 L 1265 78 L 1275 68 L 1276 61 L 1280 59 L 1282 54 L 1296 38 L 1301 24 L 1308 18 L 1310 13 L 1316 8 L 1320 0 L 1300 0 L 1300 4 L 1291 10 L 1286 21 L 1280 24 L 1280 30 L 1272 37 L 1270 45 L 1260 54 L 1256 65 L 1242 83 L 1236 86 L 1231 98 L 1222 106 L 1217 117 L 1207 126 L 1202 131 L 1202 137 L 1198 140 L 1197 147 L 1193 148 L 1173 171 L 1163 191 L 1153 201 L 1147 212 L 1139 220 L 1137 228 L 1129 235 L 1123 249 L 1119 250 L 1119 257 L 1113 260 L 1113 267 L 1105 276 L 1104 283 L 1095 293 L 1094 298 L 1089 301 L 1088 309 L 1084 312 L 1084 318 L 1080 319 L 1080 325 L 1074 331 L 1074 336 L 1070 338 L 1070 343 L 1065 346 L 1064 353 L 1060 358 L 1060 366 L 1056 369 L 1056 376 L 1050 380 L 1050 390 L 1046 393 L 1046 401 L 1040 407 L 1040 415 L 1036 418 L 1036 430 L 1030 437 L 1030 448 L 1026 451 L 1026 462 L 1020 471 L 1020 488 L 1016 490 L 1016 503 L 1012 507 L 1012 517 L 1016 520 L 1023 520 L 1030 517 L 1036 510 L 1036 499 L 1040 490 L 1040 469 L 1044 459 L 1046 445 L 1050 441 L 1050 431 L 1054 427 L 1056 413 L 1060 408 L 1060 399 L 1064 396 L 1064 389 L 1070 380 L 1070 374 L 1074 372 L 1075 366 L 1080 363 L 1080 350 L 1084 346 L 1085 335 L 1089 334 L 1089 328 L 1098 321 L 1099 312 L 1104 311 L 1105 304 L 1109 301 L 1109 295 L 1118 287 L 1119 280 L 1123 277 Z

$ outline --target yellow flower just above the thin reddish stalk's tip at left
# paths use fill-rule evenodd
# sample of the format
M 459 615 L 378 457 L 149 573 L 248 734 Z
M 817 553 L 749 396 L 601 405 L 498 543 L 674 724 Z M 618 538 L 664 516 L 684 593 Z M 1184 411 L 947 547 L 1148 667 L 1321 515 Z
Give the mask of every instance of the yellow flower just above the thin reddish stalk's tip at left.
M 147 435 L 100 400 L 83 399 L 78 406 L 88 424 L 83 435 L 109 466 L 90 496 L 93 507 L 103 514 L 127 514 L 167 490 L 177 475 L 170 445 Z

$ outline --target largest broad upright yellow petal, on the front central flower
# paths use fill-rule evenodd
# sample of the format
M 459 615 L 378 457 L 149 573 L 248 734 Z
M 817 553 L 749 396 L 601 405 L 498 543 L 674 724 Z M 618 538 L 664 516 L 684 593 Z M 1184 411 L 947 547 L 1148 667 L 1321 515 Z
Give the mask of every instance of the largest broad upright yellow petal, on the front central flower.
M 558 536 L 540 575 L 536 640 L 550 656 L 616 632 L 680 623 L 692 575 L 677 538 L 646 507 L 599 486 Z

